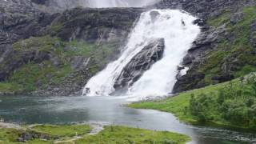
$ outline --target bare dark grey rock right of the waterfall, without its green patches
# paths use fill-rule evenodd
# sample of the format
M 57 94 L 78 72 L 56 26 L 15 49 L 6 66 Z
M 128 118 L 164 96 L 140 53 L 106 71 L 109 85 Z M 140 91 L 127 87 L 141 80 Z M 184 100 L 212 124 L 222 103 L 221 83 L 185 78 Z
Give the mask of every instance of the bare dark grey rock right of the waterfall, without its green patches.
M 225 39 L 229 39 L 231 42 L 234 42 L 235 37 L 232 34 L 229 34 L 226 30 L 226 24 L 223 23 L 222 26 L 208 26 L 206 23 L 209 18 L 214 19 L 218 18 L 221 14 L 226 13 L 226 10 L 233 15 L 231 15 L 230 23 L 235 24 L 242 20 L 243 14 L 242 9 L 245 6 L 254 6 L 254 0 L 190 0 L 190 1 L 180 1 L 180 0 L 162 0 L 154 6 L 159 9 L 178 9 L 186 10 L 190 14 L 197 16 L 198 19 L 194 21 L 194 24 L 201 26 L 202 33 L 198 35 L 198 38 L 194 41 L 193 46 L 191 46 L 188 54 L 183 59 L 182 65 L 189 67 L 190 70 L 187 71 L 187 74 L 178 77 L 178 82 L 174 86 L 174 92 L 181 92 L 184 90 L 192 90 L 202 86 L 209 85 L 209 83 L 204 82 L 204 74 L 199 73 L 198 69 L 200 66 L 204 65 L 207 62 L 207 58 L 211 52 L 218 48 L 218 44 Z M 254 46 L 254 26 L 251 26 L 251 36 L 250 43 Z M 223 64 L 221 68 L 222 74 L 215 75 L 216 79 L 214 82 L 226 82 L 230 78 L 234 78 L 233 75 L 227 74 L 227 71 L 232 71 L 237 69 L 235 62 L 234 64 L 226 63 Z M 226 70 L 223 69 L 226 67 Z

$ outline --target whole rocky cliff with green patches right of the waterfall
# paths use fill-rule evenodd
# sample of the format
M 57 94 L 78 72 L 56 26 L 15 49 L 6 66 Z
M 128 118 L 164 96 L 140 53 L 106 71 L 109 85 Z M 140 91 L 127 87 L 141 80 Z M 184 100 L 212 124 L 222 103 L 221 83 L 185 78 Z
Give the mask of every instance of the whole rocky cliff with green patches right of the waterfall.
M 190 70 L 178 77 L 174 93 L 226 82 L 255 70 L 254 0 L 162 0 L 154 6 L 186 10 L 202 26 L 182 62 Z

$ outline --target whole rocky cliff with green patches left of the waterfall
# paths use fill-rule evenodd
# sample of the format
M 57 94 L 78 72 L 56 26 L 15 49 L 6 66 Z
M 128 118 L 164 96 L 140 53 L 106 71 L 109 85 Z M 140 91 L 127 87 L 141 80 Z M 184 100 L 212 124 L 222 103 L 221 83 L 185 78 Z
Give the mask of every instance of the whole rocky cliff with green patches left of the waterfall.
M 52 14 L 29 0 L 1 2 L 0 10 L 0 91 L 58 95 L 81 90 L 116 58 L 142 12 L 75 8 Z

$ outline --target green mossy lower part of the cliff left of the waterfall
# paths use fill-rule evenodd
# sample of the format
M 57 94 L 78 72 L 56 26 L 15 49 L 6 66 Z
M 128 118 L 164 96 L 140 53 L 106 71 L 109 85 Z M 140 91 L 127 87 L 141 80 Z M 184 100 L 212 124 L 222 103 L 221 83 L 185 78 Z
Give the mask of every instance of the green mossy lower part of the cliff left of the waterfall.
M 32 37 L 14 43 L 12 57 L 0 65 L 2 94 L 75 94 L 118 53 L 114 43 L 64 42 Z

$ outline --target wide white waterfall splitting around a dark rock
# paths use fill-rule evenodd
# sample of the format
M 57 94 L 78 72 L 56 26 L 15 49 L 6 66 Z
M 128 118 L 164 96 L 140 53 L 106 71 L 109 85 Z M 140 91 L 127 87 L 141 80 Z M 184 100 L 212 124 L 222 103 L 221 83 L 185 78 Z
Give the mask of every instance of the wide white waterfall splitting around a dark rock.
M 158 13 L 157 17 L 154 18 L 152 13 Z M 150 10 L 142 13 L 121 57 L 91 78 L 85 86 L 84 94 L 88 90 L 88 96 L 106 96 L 114 92 L 114 82 L 122 69 L 155 38 L 165 39 L 163 58 L 130 87 L 128 95 L 139 98 L 170 93 L 176 82 L 177 67 L 200 33 L 199 26 L 193 24 L 195 19 L 179 10 Z

